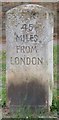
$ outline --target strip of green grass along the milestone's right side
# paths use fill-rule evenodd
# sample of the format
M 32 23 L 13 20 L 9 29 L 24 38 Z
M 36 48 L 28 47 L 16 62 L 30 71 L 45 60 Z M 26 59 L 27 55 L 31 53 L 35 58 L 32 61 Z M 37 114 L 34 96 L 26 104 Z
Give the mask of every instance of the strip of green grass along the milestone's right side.
M 53 60 L 54 60 L 54 83 L 57 85 L 59 81 L 59 72 L 58 72 L 58 66 L 59 66 L 59 45 L 54 46 L 53 49 Z M 57 114 L 59 115 L 59 88 L 58 86 L 54 87 L 53 91 L 53 102 L 51 106 L 52 113 L 57 111 Z

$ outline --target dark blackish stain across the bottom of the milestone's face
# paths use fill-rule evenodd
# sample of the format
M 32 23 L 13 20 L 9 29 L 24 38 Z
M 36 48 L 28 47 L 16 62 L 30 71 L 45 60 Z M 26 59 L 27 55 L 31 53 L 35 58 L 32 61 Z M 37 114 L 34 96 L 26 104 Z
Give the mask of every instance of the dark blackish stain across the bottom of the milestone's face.
M 19 85 L 10 84 L 8 98 L 11 99 L 11 105 L 46 105 L 47 87 L 37 80 L 25 81 Z

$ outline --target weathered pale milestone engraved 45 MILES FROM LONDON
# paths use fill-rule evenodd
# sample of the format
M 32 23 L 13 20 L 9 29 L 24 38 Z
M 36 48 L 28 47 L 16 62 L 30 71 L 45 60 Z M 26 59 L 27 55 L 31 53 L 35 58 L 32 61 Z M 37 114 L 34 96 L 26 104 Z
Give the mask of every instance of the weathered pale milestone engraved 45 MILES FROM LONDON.
M 53 17 L 28 4 L 7 12 L 7 93 L 11 105 L 51 105 Z

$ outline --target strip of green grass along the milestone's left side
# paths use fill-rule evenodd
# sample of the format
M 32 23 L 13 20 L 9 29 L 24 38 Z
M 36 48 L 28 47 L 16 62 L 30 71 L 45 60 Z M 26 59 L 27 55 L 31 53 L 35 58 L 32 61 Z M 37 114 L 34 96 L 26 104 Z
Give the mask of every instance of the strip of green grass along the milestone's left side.
M 6 51 L 2 51 L 2 107 L 6 105 Z

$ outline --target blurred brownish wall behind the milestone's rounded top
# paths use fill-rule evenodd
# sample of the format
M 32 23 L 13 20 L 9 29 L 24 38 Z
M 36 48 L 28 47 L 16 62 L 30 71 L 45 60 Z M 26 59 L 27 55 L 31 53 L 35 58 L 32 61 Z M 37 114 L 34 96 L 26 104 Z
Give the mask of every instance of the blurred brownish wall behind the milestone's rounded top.
M 1 3 L 0 3 L 1 4 Z M 19 6 L 19 5 L 22 5 L 22 4 L 25 4 L 25 2 L 2 2 L 2 11 L 0 12 L 0 16 L 3 17 L 3 21 L 5 22 L 5 13 L 6 11 L 10 10 L 11 8 L 15 7 L 15 6 Z M 28 3 L 29 4 L 29 3 Z M 35 2 L 33 2 L 33 4 L 35 4 Z M 52 3 L 52 2 L 38 2 L 37 3 L 38 5 L 42 5 L 46 8 L 49 8 L 53 11 L 54 13 L 54 40 L 57 41 L 57 39 L 59 39 L 59 36 L 57 36 L 57 12 L 59 10 L 59 5 L 57 5 L 57 2 L 56 3 Z M 58 25 L 59 26 L 59 25 Z M 3 29 L 5 31 L 5 26 L 3 25 Z M 2 31 L 3 32 L 3 31 Z M 0 32 L 1 34 L 1 32 Z M 0 36 L 1 37 L 1 36 Z M 1 41 L 2 38 L 0 38 L 0 41 Z M 5 38 L 5 32 L 3 32 L 3 39 L 2 39 L 2 42 L 3 43 L 6 43 L 6 38 Z

